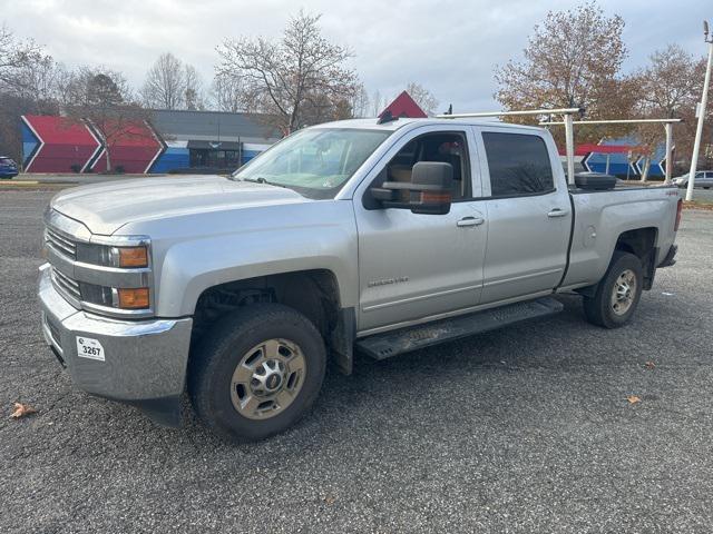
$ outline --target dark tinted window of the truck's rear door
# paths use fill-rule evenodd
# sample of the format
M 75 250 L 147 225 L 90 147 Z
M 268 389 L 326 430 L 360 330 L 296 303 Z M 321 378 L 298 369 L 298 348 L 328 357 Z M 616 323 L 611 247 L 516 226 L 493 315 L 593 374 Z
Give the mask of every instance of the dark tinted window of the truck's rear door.
M 490 195 L 517 197 L 555 190 L 549 151 L 539 136 L 485 131 Z

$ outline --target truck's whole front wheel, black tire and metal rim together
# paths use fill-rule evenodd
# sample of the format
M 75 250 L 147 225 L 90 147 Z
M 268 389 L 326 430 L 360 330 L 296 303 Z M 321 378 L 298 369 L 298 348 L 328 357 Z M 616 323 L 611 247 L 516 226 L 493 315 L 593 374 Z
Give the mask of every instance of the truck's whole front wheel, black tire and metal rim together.
M 192 355 L 198 418 L 233 441 L 277 434 L 309 412 L 324 378 L 322 336 L 280 304 L 247 306 L 221 320 Z

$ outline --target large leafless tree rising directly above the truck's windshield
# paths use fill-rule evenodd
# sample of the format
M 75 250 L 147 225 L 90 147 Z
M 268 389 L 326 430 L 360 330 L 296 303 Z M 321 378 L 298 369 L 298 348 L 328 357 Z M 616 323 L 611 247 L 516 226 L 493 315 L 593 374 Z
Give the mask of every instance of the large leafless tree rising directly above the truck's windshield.
M 355 90 L 356 76 L 344 67 L 351 52 L 322 37 L 319 21 L 300 11 L 279 41 L 240 38 L 217 48 L 217 75 L 240 79 L 246 107 L 285 135 L 340 115 Z

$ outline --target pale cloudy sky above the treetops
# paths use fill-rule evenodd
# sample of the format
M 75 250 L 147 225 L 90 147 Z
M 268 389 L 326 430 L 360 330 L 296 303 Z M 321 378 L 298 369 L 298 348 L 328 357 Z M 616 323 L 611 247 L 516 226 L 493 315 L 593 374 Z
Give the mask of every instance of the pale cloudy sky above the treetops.
M 33 38 L 74 67 L 104 63 L 136 86 L 164 51 L 195 65 L 206 85 L 216 46 L 238 36 L 279 36 L 303 7 L 323 13 L 331 39 L 349 46 L 370 92 L 395 95 L 410 81 L 429 88 L 446 108 L 492 109 L 492 70 L 519 57 L 533 26 L 567 0 L 0 0 L 0 23 Z M 626 69 L 667 42 L 704 55 L 702 20 L 710 0 L 603 0 L 626 21 Z M 593 28 L 596 31 L 596 28 Z

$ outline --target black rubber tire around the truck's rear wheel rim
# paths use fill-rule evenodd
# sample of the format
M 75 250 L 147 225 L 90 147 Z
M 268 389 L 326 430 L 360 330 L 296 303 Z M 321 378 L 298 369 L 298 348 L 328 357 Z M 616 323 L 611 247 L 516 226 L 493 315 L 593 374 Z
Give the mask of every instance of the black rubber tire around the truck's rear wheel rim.
M 636 280 L 632 300 L 625 313 L 616 313 L 612 306 L 615 284 L 623 273 L 631 270 Z M 615 250 L 604 278 L 597 285 L 594 297 L 584 297 L 584 313 L 587 320 L 604 328 L 618 328 L 629 322 L 642 296 L 644 270 L 638 257 L 629 253 Z

